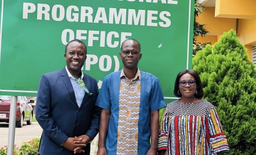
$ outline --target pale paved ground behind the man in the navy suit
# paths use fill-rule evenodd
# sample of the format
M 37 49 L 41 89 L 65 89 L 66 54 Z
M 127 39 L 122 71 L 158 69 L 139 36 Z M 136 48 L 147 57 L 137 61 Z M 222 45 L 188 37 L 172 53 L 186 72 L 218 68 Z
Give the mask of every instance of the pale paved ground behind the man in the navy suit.
M 8 145 L 8 127 L 8 123 L 0 122 L 0 148 Z M 23 142 L 29 142 L 33 138 L 41 138 L 41 134 L 42 128 L 37 122 L 33 122 L 30 126 L 24 123 L 22 128 L 15 128 L 14 144 L 16 144 L 16 147 L 20 147 Z M 96 138 L 94 138 L 92 141 L 90 154 L 97 153 L 97 143 L 98 136 L 96 136 Z

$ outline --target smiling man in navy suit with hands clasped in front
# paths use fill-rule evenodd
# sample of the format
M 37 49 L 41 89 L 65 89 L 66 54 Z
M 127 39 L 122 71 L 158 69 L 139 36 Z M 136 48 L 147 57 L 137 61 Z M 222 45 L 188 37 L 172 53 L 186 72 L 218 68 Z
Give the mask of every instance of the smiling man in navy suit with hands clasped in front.
M 36 101 L 36 120 L 43 129 L 41 155 L 90 154 L 101 108 L 95 105 L 96 79 L 81 71 L 86 52 L 85 43 L 71 40 L 65 47 L 65 68 L 41 77 Z

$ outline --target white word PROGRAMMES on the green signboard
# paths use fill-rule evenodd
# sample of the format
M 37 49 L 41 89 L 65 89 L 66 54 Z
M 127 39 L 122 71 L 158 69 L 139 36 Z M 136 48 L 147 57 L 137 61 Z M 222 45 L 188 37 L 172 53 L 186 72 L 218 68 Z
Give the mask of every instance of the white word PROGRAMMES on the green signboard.
M 177 1 L 168 1 L 177 2 Z M 108 9 L 108 10 L 107 10 Z M 116 8 L 97 8 L 95 10 L 90 6 L 71 5 L 64 8 L 63 5 L 53 5 L 52 7 L 45 3 L 23 3 L 23 19 L 28 19 L 29 14 L 36 12 L 37 20 L 54 20 L 81 23 L 104 23 L 104 24 L 122 24 L 122 25 L 141 25 L 151 27 L 170 27 L 171 13 L 164 10 L 135 10 Z M 108 12 L 108 14 L 107 14 Z M 160 19 L 160 21 L 158 21 Z M 114 22 L 115 21 L 115 22 Z

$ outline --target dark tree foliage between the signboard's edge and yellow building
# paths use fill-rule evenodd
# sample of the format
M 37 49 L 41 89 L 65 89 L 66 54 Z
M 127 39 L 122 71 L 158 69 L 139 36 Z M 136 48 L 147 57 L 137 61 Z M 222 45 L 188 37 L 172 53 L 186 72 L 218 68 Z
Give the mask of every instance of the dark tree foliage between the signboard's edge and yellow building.
M 201 3 L 195 2 L 195 19 L 194 19 L 194 29 L 193 29 L 193 54 L 195 55 L 199 50 L 202 50 L 203 47 L 205 47 L 207 44 L 210 44 L 210 42 L 206 43 L 198 43 L 196 38 L 201 35 L 202 37 L 208 33 L 208 31 L 204 28 L 204 25 L 206 24 L 199 24 L 196 22 L 196 17 L 199 16 L 204 11 L 203 5 Z

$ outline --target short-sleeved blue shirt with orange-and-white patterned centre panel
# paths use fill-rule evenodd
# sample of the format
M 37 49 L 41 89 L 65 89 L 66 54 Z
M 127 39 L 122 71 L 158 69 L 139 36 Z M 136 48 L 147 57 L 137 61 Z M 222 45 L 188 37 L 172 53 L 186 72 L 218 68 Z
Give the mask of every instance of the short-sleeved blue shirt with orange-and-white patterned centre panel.
M 166 106 L 158 78 L 138 69 L 133 80 L 123 71 L 104 77 L 96 105 L 110 110 L 108 155 L 145 155 L 150 149 L 150 113 Z

